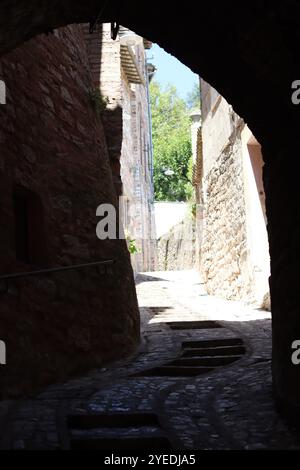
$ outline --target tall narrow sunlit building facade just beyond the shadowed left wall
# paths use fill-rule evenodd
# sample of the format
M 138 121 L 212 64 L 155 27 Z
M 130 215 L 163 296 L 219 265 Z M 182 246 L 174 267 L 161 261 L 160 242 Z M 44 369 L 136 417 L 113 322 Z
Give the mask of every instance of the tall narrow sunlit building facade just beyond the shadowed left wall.
M 120 27 L 115 39 L 111 25 L 87 35 L 95 86 L 108 101 L 103 114 L 110 162 L 125 235 L 133 248 L 135 272 L 155 267 L 153 155 L 146 50 L 151 43 Z

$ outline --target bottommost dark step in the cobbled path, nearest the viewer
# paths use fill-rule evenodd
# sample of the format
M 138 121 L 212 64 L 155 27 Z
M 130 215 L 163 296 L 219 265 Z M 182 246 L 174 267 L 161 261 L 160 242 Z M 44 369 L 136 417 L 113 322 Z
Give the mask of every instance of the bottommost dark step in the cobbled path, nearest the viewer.
M 172 450 L 165 436 L 71 439 L 70 447 L 71 450 Z

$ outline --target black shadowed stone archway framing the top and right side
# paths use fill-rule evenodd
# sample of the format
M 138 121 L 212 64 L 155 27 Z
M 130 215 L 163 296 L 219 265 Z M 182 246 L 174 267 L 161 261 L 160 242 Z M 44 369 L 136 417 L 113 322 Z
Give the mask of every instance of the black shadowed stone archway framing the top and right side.
M 2 1 L 0 52 L 70 23 L 119 21 L 160 43 L 211 83 L 243 116 L 262 144 L 272 260 L 273 380 L 279 402 L 300 412 L 299 369 L 291 362 L 300 338 L 298 319 L 299 194 L 297 130 L 300 108 L 291 101 L 299 78 L 300 6 L 295 0 L 222 5 L 154 0 L 147 11 L 135 2 L 86 0 Z M 169 7 L 169 8 L 166 8 Z M 170 13 L 171 18 L 170 18 Z

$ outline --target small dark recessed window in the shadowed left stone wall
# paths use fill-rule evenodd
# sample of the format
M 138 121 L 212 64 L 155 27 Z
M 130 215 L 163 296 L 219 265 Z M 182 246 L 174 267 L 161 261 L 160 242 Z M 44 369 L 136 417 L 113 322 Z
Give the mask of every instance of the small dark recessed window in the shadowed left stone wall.
M 40 197 L 17 186 L 13 192 L 16 259 L 25 264 L 45 265 L 46 237 Z

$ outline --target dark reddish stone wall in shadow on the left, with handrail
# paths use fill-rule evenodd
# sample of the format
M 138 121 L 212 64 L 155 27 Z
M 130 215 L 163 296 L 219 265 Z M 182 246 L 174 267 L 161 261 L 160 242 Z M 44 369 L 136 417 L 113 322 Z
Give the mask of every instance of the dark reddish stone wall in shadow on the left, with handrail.
M 0 72 L 1 274 L 116 261 L 109 275 L 85 268 L 11 281 L 7 291 L 1 283 L 1 395 L 12 396 L 132 351 L 139 316 L 125 241 L 96 237 L 96 208 L 117 197 L 83 29 L 27 42 Z

